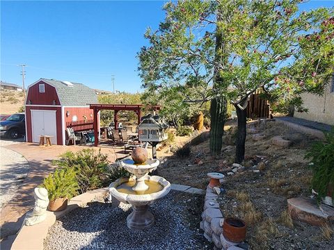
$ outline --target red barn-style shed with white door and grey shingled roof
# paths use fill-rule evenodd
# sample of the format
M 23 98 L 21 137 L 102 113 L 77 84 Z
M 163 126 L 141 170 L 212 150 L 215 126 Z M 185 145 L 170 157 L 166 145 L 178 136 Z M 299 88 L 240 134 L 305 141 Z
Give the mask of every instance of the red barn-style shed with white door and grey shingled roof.
M 39 135 L 52 135 L 52 144 L 65 145 L 66 124 L 93 119 L 87 103 L 97 103 L 95 90 L 81 83 L 40 78 L 26 95 L 26 141 L 39 142 Z

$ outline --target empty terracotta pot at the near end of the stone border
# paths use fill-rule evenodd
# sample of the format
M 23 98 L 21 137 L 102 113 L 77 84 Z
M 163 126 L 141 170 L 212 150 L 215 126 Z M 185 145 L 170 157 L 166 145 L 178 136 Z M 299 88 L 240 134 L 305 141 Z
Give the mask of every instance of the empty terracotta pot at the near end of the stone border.
M 231 242 L 243 242 L 246 238 L 246 223 L 232 217 L 224 219 L 223 235 Z

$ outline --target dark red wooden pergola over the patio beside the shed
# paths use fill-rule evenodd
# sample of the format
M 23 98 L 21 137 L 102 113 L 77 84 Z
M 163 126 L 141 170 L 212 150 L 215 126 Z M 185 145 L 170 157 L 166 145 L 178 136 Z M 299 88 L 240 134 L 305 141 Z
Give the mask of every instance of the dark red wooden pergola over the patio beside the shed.
M 89 108 L 93 109 L 94 113 L 94 122 L 93 122 L 93 129 L 94 129 L 94 137 L 95 137 L 95 147 L 99 144 L 99 131 L 98 131 L 98 124 L 97 124 L 97 113 L 100 110 L 113 110 L 113 122 L 115 123 L 115 129 L 118 128 L 118 112 L 125 110 L 125 111 L 134 111 L 138 116 L 138 124 L 141 123 L 141 108 L 143 108 L 142 104 L 100 104 L 100 103 L 92 103 L 89 104 Z M 160 110 L 160 106 L 151 106 L 152 110 L 157 111 Z

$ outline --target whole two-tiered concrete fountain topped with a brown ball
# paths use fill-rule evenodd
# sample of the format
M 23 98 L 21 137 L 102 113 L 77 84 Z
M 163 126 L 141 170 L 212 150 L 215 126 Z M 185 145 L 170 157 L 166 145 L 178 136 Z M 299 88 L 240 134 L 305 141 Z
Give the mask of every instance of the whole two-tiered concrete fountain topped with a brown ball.
M 114 181 L 109 185 L 109 192 L 118 201 L 132 205 L 133 211 L 127 217 L 128 228 L 149 228 L 154 224 L 154 216 L 148 210 L 149 204 L 168 194 L 170 183 L 160 176 L 148 175 L 157 169 L 159 160 L 148 160 L 146 149 L 134 149 L 132 157 L 125 158 L 120 165 L 133 176 Z

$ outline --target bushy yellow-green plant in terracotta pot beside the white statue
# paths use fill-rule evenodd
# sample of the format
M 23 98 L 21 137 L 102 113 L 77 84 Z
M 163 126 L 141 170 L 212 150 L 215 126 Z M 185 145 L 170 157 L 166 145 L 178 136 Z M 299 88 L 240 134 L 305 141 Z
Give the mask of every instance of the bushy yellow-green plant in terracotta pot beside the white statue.
M 56 169 L 44 179 L 42 188 L 49 193 L 50 211 L 61 211 L 67 208 L 67 201 L 77 194 L 79 185 L 73 168 Z

